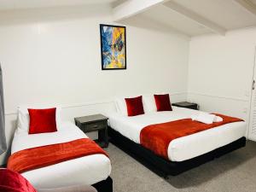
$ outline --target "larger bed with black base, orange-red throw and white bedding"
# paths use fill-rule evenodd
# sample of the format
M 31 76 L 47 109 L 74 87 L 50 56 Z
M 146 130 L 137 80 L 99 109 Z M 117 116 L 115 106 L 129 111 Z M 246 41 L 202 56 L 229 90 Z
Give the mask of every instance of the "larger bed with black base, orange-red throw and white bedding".
M 245 146 L 242 119 L 218 114 L 224 120 L 207 125 L 190 119 L 197 110 L 172 109 L 133 117 L 108 113 L 110 141 L 164 176 Z

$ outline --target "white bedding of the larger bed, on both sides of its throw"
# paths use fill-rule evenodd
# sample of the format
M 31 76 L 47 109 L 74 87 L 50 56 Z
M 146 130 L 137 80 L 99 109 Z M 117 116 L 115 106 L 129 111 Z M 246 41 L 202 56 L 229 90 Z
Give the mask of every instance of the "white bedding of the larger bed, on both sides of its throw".
M 152 112 L 128 117 L 120 113 L 108 113 L 108 125 L 135 143 L 140 143 L 140 132 L 147 125 L 165 123 L 178 119 L 190 118 L 199 113 L 189 108 L 172 107 L 172 111 Z M 186 137 L 172 140 L 168 146 L 168 158 L 183 161 L 206 154 L 216 148 L 232 143 L 244 137 L 247 124 L 236 122 L 201 131 Z

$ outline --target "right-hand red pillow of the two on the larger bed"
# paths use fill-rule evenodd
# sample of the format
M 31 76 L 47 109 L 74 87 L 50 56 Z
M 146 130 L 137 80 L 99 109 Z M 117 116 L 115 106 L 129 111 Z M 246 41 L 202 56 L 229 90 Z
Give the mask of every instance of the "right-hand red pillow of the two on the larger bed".
M 169 94 L 154 95 L 154 101 L 157 111 L 172 111 Z

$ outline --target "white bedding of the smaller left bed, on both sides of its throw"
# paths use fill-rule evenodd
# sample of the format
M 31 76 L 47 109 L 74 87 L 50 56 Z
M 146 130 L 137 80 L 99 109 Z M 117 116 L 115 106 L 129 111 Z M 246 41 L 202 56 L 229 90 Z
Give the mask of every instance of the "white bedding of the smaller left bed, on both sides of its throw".
M 60 131 L 29 135 L 26 131 L 15 131 L 11 153 L 22 149 L 65 143 L 87 136 L 71 122 L 61 124 Z M 105 180 L 111 172 L 111 164 L 104 154 L 93 154 L 67 160 L 52 166 L 22 173 L 36 188 L 53 188 L 78 184 L 94 184 Z

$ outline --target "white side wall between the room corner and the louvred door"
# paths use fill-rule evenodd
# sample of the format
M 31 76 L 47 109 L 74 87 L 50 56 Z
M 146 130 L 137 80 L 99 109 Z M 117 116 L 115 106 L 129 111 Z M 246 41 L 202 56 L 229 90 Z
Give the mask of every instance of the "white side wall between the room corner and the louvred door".
M 188 100 L 248 120 L 256 28 L 192 38 Z

